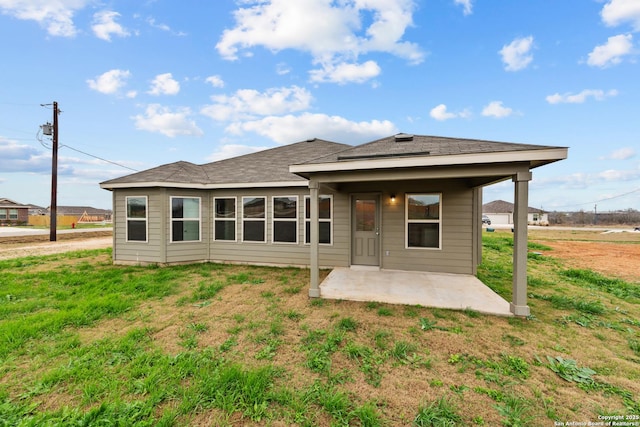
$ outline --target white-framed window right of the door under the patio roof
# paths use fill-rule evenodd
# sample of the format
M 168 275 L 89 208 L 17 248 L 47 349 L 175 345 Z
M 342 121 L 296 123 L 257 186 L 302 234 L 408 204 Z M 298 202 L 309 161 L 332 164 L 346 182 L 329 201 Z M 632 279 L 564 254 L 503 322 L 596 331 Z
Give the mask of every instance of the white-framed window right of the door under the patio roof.
M 440 249 L 440 194 L 407 194 L 407 247 Z

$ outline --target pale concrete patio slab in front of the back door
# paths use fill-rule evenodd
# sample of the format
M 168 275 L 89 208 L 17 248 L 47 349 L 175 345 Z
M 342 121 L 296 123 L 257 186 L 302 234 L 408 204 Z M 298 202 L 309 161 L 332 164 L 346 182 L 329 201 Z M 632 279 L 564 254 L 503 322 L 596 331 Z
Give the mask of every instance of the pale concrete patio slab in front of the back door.
M 320 284 L 320 296 L 512 316 L 507 301 L 477 277 L 464 274 L 334 268 Z

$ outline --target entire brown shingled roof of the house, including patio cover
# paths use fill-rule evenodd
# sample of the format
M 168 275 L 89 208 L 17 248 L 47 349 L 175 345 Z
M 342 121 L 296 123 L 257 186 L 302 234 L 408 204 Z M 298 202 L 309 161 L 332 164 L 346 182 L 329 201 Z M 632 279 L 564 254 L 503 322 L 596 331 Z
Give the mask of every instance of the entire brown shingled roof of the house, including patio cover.
M 531 168 L 566 158 L 566 148 L 397 134 L 359 146 L 310 139 L 204 165 L 175 162 L 102 182 L 127 187 L 231 188 L 305 185 L 309 173 L 499 162 Z

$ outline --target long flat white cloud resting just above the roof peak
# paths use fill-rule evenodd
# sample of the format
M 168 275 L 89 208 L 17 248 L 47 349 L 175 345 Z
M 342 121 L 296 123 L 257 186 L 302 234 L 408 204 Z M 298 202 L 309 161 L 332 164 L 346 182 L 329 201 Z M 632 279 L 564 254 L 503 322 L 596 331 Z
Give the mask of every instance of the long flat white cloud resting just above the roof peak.
M 235 135 L 253 132 L 279 144 L 288 144 L 307 138 L 361 143 L 398 133 L 396 126 L 388 120 L 352 122 L 339 116 L 311 113 L 298 116 L 270 116 L 255 121 L 233 123 L 226 128 L 226 131 Z

